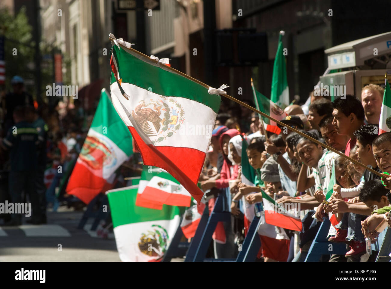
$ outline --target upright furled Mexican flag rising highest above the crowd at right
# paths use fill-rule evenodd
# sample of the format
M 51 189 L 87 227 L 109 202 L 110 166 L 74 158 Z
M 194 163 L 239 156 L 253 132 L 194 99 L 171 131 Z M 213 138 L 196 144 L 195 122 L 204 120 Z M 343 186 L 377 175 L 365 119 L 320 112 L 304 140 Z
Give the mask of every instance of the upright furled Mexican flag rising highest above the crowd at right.
M 285 108 L 289 105 L 289 87 L 287 80 L 285 56 L 283 54 L 284 47 L 282 45 L 282 35 L 283 33 L 281 31 L 280 36 L 278 38 L 276 58 L 274 58 L 270 99 L 279 107 Z

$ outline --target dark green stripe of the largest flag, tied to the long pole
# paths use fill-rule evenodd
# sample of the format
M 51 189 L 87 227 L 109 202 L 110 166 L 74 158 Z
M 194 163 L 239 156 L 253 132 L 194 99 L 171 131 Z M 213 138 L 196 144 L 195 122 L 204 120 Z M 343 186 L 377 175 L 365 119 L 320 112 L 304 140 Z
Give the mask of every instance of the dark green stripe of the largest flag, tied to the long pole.
M 183 97 L 191 99 L 208 107 L 214 112 L 219 112 L 221 97 L 209 94 L 208 89 L 174 72 L 161 68 L 162 64 L 149 64 L 125 49 L 113 46 L 113 54 L 116 57 L 118 73 L 122 82 L 131 83 L 145 90 L 162 96 Z M 113 73 L 111 84 L 115 82 Z

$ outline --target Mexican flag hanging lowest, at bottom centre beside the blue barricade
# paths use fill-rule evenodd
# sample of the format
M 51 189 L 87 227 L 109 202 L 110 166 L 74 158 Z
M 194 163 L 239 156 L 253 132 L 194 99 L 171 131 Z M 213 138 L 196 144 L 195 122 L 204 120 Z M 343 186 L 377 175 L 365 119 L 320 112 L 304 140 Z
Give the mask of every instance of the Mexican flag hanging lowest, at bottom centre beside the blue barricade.
M 138 186 L 107 191 L 115 242 L 124 262 L 160 261 L 178 229 L 180 215 L 176 206 L 163 205 L 162 210 L 135 205 Z

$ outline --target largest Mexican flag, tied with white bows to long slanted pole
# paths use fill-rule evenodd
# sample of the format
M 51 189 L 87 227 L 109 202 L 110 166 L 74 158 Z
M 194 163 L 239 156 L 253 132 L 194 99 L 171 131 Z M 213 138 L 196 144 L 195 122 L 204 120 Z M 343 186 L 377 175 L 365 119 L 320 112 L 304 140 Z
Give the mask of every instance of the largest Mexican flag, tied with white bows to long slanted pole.
M 169 172 L 199 202 L 197 182 L 220 96 L 132 48 L 113 45 L 110 55 L 113 105 L 144 164 Z

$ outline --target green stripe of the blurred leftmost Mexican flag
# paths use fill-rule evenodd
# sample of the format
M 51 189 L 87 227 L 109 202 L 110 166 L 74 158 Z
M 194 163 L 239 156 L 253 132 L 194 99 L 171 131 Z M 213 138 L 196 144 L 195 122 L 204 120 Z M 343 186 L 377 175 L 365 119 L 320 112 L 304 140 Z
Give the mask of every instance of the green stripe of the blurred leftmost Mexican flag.
M 132 135 L 113 107 L 106 90 L 100 93 L 91 129 L 111 139 L 126 155 L 133 154 Z

